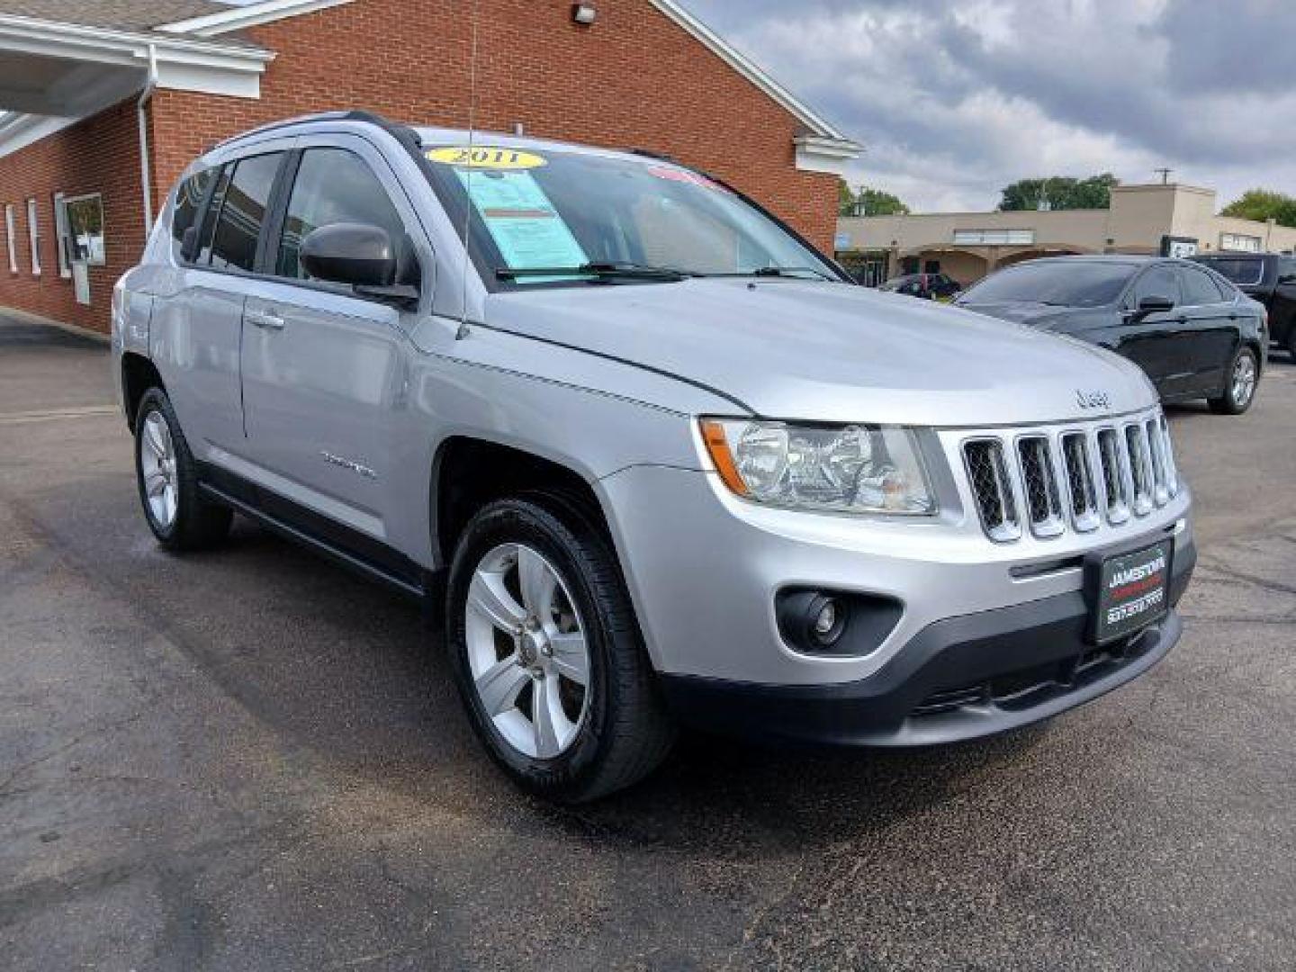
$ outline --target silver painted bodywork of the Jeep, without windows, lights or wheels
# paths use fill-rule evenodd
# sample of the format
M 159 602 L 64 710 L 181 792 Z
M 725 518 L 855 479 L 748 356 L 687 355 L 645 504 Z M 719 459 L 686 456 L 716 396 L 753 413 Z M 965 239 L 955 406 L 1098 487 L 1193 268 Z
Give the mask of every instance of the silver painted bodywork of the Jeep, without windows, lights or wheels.
M 465 137 L 421 133 L 429 145 Z M 1026 578 L 1013 568 L 1191 538 L 1187 489 L 1118 531 L 1015 544 L 993 543 L 969 512 L 967 435 L 1156 407 L 1139 369 L 1113 354 L 835 283 L 489 293 L 415 159 L 360 122 L 253 133 L 189 171 L 310 144 L 351 145 L 380 178 L 424 264 L 420 306 L 183 266 L 168 203 L 124 277 L 130 310 L 114 315 L 114 367 L 146 347 L 201 460 L 419 565 L 442 566 L 429 502 L 438 451 L 457 437 L 516 447 L 591 485 L 658 670 L 820 684 L 867 678 L 940 618 L 1081 586 L 1074 564 Z M 284 327 L 258 327 L 266 314 Z M 940 513 L 811 515 L 741 500 L 712 470 L 696 424 L 705 415 L 919 426 L 938 460 Z M 800 654 L 774 622 L 774 592 L 789 584 L 890 595 L 903 616 L 868 656 Z

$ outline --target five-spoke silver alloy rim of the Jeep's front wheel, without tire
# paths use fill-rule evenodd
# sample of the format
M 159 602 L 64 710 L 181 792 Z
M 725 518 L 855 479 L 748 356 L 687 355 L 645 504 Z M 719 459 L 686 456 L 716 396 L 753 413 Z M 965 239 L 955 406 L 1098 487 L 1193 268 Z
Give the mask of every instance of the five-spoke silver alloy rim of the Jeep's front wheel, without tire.
M 584 724 L 591 692 L 586 629 L 562 575 L 531 547 L 500 544 L 473 572 L 464 612 L 486 715 L 524 756 L 561 756 Z

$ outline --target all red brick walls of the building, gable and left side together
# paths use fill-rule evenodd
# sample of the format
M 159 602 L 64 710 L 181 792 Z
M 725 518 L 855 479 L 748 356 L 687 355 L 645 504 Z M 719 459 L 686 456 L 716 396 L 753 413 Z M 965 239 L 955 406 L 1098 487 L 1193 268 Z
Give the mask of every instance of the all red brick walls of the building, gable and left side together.
M 180 171 L 255 124 L 345 108 L 467 127 L 470 5 L 355 0 L 249 31 L 276 52 L 259 100 L 159 89 L 149 109 L 156 206 Z M 569 0 L 490 0 L 477 38 L 478 128 L 647 148 L 712 171 L 832 251 L 836 176 L 796 171 L 798 122 L 648 0 L 600 0 L 592 27 Z M 0 232 L 0 306 L 108 329 L 113 281 L 144 241 L 133 101 L 0 157 L 0 205 L 17 216 L 17 275 Z M 60 279 L 53 193 L 104 194 L 108 266 L 91 268 L 92 305 Z M 40 277 L 31 275 L 26 200 L 38 202 Z

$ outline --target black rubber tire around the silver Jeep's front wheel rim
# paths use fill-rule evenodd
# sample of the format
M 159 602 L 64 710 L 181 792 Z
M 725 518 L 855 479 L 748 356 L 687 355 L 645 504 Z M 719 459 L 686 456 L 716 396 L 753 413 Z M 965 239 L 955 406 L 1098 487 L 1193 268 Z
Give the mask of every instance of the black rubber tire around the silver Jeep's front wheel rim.
M 556 568 L 588 647 L 583 721 L 551 758 L 515 748 L 486 713 L 473 683 L 468 591 L 478 565 L 503 544 L 525 544 Z M 675 728 L 666 714 L 630 597 L 609 542 L 568 499 L 529 495 L 485 507 L 465 527 L 450 568 L 446 643 L 469 721 L 491 758 L 524 789 L 578 804 L 623 789 L 666 758 Z

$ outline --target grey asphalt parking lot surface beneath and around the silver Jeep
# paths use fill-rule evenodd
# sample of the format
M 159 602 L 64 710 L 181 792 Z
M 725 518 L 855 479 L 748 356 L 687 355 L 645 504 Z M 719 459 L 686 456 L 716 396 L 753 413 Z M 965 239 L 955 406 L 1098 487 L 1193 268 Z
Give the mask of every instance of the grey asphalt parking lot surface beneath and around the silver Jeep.
M 1291 968 L 1296 367 L 1172 422 L 1201 562 L 1148 677 L 954 749 L 688 739 L 564 810 L 416 608 L 242 522 L 159 552 L 106 346 L 0 315 L 0 966 Z

